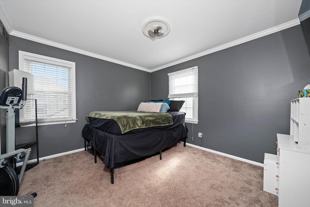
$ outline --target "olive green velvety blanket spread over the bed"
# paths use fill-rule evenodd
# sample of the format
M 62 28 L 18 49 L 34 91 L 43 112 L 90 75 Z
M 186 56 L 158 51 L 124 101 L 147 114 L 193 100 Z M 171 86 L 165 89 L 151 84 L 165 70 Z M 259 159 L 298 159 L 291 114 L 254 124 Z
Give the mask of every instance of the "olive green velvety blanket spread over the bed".
M 159 127 L 173 124 L 170 113 L 141 111 L 92 111 L 86 116 L 100 119 L 113 119 L 121 128 L 122 134 L 137 128 Z

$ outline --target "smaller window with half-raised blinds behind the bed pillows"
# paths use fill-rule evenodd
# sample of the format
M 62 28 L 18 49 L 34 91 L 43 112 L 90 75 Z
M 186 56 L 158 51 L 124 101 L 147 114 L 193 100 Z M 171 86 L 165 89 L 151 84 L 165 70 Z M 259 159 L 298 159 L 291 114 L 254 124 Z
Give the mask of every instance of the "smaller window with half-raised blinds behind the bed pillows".
M 188 123 L 198 123 L 198 66 L 168 74 L 170 100 L 185 100 L 180 111 Z

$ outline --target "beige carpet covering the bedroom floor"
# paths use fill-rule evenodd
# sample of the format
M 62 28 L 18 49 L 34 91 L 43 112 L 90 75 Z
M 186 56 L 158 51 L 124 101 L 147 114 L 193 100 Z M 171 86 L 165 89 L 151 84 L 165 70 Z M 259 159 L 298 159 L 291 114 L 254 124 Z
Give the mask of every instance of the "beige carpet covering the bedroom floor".
M 263 168 L 178 143 L 159 155 L 109 169 L 78 152 L 24 174 L 18 195 L 38 193 L 35 207 L 276 207 L 263 191 Z

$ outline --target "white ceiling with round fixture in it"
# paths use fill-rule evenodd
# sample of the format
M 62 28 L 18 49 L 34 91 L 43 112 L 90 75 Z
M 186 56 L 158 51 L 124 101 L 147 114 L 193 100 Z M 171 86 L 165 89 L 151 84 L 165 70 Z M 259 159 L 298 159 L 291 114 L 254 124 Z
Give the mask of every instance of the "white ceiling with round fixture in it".
M 299 24 L 302 0 L 0 0 L 11 35 L 153 72 Z M 166 20 L 151 40 L 142 25 Z

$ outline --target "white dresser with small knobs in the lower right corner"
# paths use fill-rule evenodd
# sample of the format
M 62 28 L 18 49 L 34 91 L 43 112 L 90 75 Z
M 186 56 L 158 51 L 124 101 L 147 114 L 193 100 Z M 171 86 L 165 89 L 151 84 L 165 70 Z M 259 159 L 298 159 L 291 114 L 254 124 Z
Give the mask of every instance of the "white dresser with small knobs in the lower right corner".
M 310 152 L 290 135 L 277 139 L 277 155 L 265 153 L 263 190 L 279 196 L 279 207 L 310 207 Z

